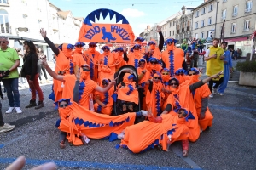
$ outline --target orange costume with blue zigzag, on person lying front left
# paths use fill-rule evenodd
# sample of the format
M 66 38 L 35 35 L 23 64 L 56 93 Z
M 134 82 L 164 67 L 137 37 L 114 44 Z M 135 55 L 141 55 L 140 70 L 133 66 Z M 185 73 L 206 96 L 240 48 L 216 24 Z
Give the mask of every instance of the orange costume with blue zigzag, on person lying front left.
M 134 124 L 136 113 L 127 113 L 120 116 L 108 116 L 89 111 L 77 103 L 68 105 L 65 109 L 59 108 L 61 123 L 58 127 L 61 132 L 67 133 L 68 142 L 73 145 L 82 145 L 79 138 L 84 133 L 91 139 L 117 139 L 117 134 L 127 126 Z

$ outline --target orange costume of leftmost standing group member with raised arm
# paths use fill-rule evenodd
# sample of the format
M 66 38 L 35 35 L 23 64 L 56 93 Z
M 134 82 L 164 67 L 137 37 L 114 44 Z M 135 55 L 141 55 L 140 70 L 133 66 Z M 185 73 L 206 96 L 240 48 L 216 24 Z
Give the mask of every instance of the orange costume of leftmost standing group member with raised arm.
M 59 49 L 59 54 L 56 57 L 56 66 L 55 66 L 55 73 L 59 75 L 69 75 L 73 74 L 74 72 L 74 65 L 73 65 L 73 58 L 72 58 L 72 49 L 73 45 L 63 43 L 60 46 L 61 50 Z M 58 80 L 53 80 L 54 82 L 54 93 L 55 93 L 55 101 L 62 99 L 62 88 L 63 83 Z

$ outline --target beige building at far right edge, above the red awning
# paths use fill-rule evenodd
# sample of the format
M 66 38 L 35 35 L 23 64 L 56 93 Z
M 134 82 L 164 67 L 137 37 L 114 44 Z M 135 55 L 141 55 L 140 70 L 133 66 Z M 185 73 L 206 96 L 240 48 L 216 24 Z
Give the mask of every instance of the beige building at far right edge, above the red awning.
M 219 0 L 216 37 L 220 37 L 224 23 L 224 41 L 229 48 L 240 48 L 242 56 L 251 52 L 248 40 L 256 26 L 256 0 Z

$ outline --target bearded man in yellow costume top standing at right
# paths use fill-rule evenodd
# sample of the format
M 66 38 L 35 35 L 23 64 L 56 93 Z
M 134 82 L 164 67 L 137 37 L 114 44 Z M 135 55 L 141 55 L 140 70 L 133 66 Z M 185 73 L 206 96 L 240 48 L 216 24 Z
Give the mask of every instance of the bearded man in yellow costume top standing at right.
M 218 47 L 219 40 L 218 38 L 213 39 L 213 46 L 207 49 L 205 54 L 205 61 L 207 61 L 207 76 L 211 77 L 214 74 L 217 74 L 220 71 L 224 71 L 224 50 L 223 48 Z M 220 75 L 218 79 L 212 79 L 209 82 L 209 88 L 211 93 L 210 98 L 213 98 L 213 94 L 216 94 L 219 84 L 223 82 L 223 75 Z M 213 86 L 213 83 L 215 85 Z

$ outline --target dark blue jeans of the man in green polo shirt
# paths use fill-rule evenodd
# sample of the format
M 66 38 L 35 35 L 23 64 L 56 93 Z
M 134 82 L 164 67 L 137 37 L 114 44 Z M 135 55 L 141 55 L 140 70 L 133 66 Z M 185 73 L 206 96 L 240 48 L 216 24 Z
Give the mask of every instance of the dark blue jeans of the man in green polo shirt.
M 10 107 L 20 107 L 19 78 L 3 79 Z

